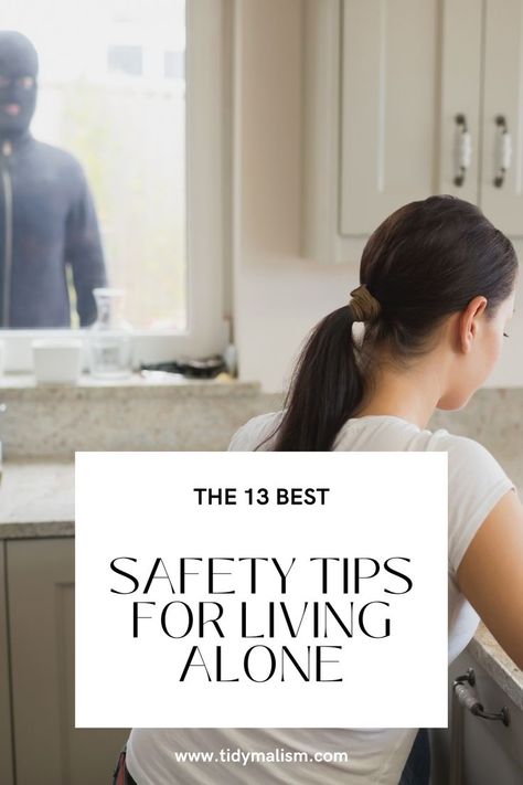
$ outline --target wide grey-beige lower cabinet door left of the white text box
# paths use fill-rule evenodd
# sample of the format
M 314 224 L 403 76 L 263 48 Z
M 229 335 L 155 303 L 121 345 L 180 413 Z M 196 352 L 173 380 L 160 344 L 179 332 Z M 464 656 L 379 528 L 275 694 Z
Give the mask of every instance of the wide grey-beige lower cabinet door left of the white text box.
M 74 728 L 74 540 L 8 543 L 17 785 L 108 783 L 122 730 Z

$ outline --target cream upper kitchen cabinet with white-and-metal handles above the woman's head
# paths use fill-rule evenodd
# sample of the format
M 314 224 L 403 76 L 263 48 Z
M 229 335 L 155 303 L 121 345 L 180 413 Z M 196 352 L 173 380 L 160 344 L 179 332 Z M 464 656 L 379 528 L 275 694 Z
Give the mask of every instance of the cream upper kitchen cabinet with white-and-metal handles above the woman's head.
M 386 215 L 431 193 L 523 235 L 522 9 L 306 0 L 305 256 L 357 262 Z

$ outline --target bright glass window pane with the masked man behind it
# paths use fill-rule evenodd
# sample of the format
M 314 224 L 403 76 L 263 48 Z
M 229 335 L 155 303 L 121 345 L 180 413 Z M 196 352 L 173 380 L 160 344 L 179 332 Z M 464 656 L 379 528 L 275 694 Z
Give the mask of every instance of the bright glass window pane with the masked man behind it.
M 185 0 L 3 0 L 0 20 L 2 30 L 22 32 L 38 51 L 31 134 L 79 161 L 96 205 L 107 283 L 126 290 L 127 319 L 135 328 L 185 329 Z M 9 112 L 17 114 L 12 106 Z M 17 166 L 14 153 L 9 166 Z M 87 208 L 78 206 L 77 197 L 75 204 L 64 203 L 67 176 L 54 174 L 50 160 L 44 168 L 25 174 L 35 181 L 31 197 L 23 193 L 22 240 L 26 252 L 31 245 L 30 263 L 25 255 L 23 270 L 17 267 L 21 237 L 14 236 L 20 229 L 14 220 L 10 280 L 4 258 L 6 189 L 3 199 L 0 193 L 3 294 L 12 297 L 11 312 L 18 315 L 18 323 L 4 327 L 62 326 L 56 323 L 62 318 L 57 304 L 63 306 L 67 293 L 73 326 L 79 323 L 76 300 L 81 312 L 86 308 L 82 285 L 84 274 L 88 279 L 88 263 L 81 259 L 70 269 L 64 263 L 76 253 L 67 251 L 75 241 L 89 242 L 88 227 L 81 240 L 79 230 L 71 229 L 82 223 Z M 8 173 L 13 204 L 20 209 L 17 174 Z M 32 211 L 42 214 L 41 203 L 46 205 L 44 229 L 55 227 L 51 251 L 43 235 L 39 237 L 39 221 L 29 236 L 28 222 Z M 45 266 L 53 268 L 52 284 L 49 276 L 39 283 Z M 92 286 L 89 280 L 85 286 Z M 49 318 L 47 299 L 53 300 Z

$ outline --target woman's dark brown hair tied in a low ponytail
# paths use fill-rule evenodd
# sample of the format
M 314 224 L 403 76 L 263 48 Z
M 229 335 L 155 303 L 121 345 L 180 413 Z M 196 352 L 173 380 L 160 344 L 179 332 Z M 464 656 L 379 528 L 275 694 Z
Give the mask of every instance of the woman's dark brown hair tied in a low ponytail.
M 436 328 L 473 297 L 487 298 L 491 318 L 512 293 L 516 272 L 512 243 L 476 205 L 440 195 L 396 210 L 369 238 L 360 265 L 360 283 L 378 300 L 380 315 L 365 326 L 361 346 L 349 303 L 313 328 L 281 422 L 267 437 L 276 434 L 273 449 L 331 449 L 362 402 L 373 347 L 385 344 L 398 362 L 424 353 Z

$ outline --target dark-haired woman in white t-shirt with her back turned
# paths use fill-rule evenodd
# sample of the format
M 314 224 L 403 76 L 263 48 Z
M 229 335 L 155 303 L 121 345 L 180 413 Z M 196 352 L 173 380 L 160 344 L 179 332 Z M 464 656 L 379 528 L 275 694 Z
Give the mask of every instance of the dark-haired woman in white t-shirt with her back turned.
M 430 432 L 492 370 L 514 308 L 517 259 L 478 208 L 451 197 L 407 204 L 363 252 L 361 286 L 314 328 L 281 412 L 249 421 L 230 449 L 448 450 L 449 661 L 478 614 L 523 667 L 523 507 L 480 444 Z M 363 322 L 363 336 L 353 325 Z M 417 729 L 134 730 L 138 785 L 397 785 Z M 175 751 L 333 752 L 344 763 L 174 764 Z M 407 773 L 405 773 L 407 777 Z M 412 782 L 412 779 L 410 779 Z

